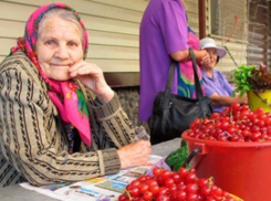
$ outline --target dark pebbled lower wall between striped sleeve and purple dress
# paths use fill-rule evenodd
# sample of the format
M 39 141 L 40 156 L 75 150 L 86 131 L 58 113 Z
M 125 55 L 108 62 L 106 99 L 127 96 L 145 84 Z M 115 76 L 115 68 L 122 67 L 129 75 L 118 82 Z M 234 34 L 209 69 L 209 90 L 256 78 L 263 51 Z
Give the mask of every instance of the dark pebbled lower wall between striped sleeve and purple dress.
M 117 93 L 122 107 L 127 113 L 132 124 L 134 126 L 143 125 L 149 134 L 147 123 L 138 120 L 139 86 L 114 87 L 113 89 Z

